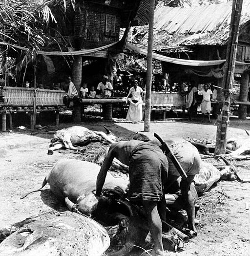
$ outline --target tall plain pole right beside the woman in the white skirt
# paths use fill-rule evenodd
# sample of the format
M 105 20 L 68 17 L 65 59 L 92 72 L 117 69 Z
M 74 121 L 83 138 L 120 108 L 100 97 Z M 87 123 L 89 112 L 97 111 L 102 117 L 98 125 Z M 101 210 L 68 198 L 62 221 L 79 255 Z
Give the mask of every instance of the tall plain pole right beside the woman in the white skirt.
M 150 0 L 149 22 L 148 22 L 147 63 L 146 63 L 146 98 L 145 98 L 144 131 L 150 131 L 154 6 L 155 6 L 155 0 Z

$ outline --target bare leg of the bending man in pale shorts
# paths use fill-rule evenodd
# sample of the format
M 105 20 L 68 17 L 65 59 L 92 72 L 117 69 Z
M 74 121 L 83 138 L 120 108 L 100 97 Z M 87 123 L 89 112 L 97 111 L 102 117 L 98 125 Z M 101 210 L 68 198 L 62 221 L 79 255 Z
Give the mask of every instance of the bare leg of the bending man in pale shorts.
M 194 179 L 194 175 L 187 176 L 187 179 L 181 180 L 181 193 L 185 202 L 185 210 L 187 211 L 188 217 L 188 228 L 196 232 L 194 218 L 195 218 L 195 199 L 190 191 L 191 183 Z

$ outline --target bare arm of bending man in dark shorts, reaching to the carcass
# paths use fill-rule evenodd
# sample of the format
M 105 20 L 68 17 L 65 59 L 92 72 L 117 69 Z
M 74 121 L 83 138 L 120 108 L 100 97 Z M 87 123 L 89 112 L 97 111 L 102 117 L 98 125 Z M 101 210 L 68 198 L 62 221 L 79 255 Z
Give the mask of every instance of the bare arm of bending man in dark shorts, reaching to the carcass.
M 102 194 L 103 186 L 105 183 L 107 171 L 109 170 L 110 166 L 112 165 L 113 159 L 114 159 L 114 153 L 113 150 L 111 149 L 107 156 L 104 159 L 103 166 L 101 167 L 97 179 L 96 179 L 96 195 L 100 196 Z

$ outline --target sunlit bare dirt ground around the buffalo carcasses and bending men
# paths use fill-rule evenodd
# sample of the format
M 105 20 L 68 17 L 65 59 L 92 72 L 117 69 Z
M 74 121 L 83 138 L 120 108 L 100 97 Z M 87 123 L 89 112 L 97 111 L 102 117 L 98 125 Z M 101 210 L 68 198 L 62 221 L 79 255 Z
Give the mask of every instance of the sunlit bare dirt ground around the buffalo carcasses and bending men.
M 72 123 L 63 123 L 56 129 L 73 126 Z M 100 118 L 88 118 L 79 124 L 94 130 L 103 130 L 108 127 L 119 137 L 132 137 L 137 131 L 144 129 L 144 123 L 129 123 L 124 119 L 114 119 L 104 122 Z M 228 130 L 228 138 L 244 138 L 244 128 L 250 129 L 250 120 L 240 122 L 232 119 Z M 158 134 L 175 135 L 183 138 L 215 139 L 216 124 L 201 124 L 184 120 L 171 119 L 154 121 L 150 130 Z M 85 153 L 72 150 L 59 150 L 53 155 L 47 154 L 49 131 L 13 131 L 0 134 L 0 228 L 21 221 L 31 215 L 55 209 L 66 210 L 65 206 L 57 201 L 49 186 L 42 192 L 36 192 L 23 200 L 20 196 L 39 188 L 45 175 L 50 171 L 57 160 L 61 158 L 75 158 L 91 161 L 95 150 L 100 143 L 87 146 Z M 209 161 L 209 160 L 207 160 Z M 210 160 L 212 161 L 212 160 Z M 213 160 L 214 161 L 214 160 Z M 239 174 L 250 178 L 250 161 L 234 163 Z M 197 219 L 200 220 L 197 229 L 198 236 L 186 244 L 181 252 L 169 252 L 170 256 L 247 256 L 250 255 L 250 184 L 241 184 L 238 181 L 220 181 L 213 188 L 199 197 L 201 209 Z

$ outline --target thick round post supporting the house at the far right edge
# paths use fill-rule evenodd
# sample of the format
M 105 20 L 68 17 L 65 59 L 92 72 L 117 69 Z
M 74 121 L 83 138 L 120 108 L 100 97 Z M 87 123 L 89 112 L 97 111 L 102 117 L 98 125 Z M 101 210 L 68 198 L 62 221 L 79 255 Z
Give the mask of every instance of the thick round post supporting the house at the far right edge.
M 248 101 L 248 84 L 249 84 L 249 72 L 245 71 L 243 74 L 241 74 L 239 101 L 242 101 L 242 102 Z M 239 118 L 247 119 L 247 106 L 246 105 L 240 105 Z

